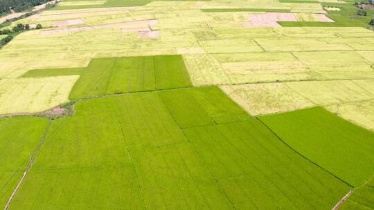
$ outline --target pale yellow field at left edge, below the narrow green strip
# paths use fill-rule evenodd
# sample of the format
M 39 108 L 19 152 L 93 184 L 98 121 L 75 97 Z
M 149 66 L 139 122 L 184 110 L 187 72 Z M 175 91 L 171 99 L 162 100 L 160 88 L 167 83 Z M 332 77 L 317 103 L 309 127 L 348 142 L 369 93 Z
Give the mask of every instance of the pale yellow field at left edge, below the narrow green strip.
M 0 80 L 0 114 L 35 113 L 69 102 L 78 76 Z

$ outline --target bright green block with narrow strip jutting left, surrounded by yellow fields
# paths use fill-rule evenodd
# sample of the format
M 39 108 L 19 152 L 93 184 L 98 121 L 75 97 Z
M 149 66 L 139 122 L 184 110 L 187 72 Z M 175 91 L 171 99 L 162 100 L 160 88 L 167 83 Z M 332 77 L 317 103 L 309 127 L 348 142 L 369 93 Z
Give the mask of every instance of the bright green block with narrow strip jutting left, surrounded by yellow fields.
M 70 99 L 192 86 L 180 55 L 92 59 L 87 68 L 31 70 L 24 77 L 57 75 L 80 75 Z

